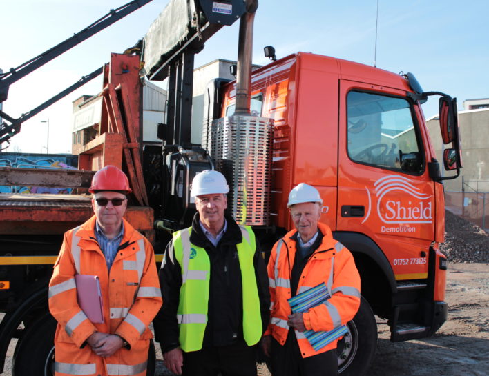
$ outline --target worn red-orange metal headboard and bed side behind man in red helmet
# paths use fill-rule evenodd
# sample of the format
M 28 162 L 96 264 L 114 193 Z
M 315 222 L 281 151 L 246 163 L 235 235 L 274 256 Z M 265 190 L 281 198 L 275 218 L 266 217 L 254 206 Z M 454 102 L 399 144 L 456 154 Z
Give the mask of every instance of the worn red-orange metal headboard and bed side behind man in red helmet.
M 99 135 L 84 147 L 78 168 L 95 171 L 109 164 L 122 168 L 136 201 L 124 217 L 154 241 L 154 214 L 148 206 L 140 154 L 141 94 L 139 57 L 112 54 L 111 63 L 104 66 L 104 90 L 99 94 L 103 99 Z M 62 234 L 92 215 L 88 196 L 1 195 L 0 234 Z

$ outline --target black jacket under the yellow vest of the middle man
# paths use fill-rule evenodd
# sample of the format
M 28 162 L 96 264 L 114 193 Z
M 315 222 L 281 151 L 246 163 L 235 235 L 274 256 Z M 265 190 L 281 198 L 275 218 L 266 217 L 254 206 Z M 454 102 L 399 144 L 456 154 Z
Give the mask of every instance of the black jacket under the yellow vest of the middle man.
M 209 281 L 208 322 L 204 333 L 203 346 L 227 346 L 242 340 L 242 281 L 236 244 L 242 241 L 242 234 L 236 221 L 226 215 L 227 229 L 215 247 L 207 239 L 199 223 L 199 213 L 193 217 L 190 241 L 206 250 L 211 261 Z M 173 241 L 173 240 L 172 240 Z M 160 269 L 163 306 L 153 320 L 155 339 L 160 342 L 163 353 L 179 346 L 177 309 L 182 286 L 182 270 L 174 255 L 170 257 L 166 247 L 164 262 Z M 174 260 L 172 262 L 171 260 Z M 270 296 L 265 262 L 256 247 L 253 259 L 260 297 L 262 330 L 269 321 Z M 198 297 L 195 297 L 198 299 Z

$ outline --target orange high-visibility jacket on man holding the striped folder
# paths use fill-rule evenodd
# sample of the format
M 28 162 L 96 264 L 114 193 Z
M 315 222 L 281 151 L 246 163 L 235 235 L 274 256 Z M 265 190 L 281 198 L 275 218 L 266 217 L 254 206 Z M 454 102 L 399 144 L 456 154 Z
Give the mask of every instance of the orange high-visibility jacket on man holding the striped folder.
M 326 284 L 331 297 L 326 304 L 320 304 L 303 313 L 303 321 L 307 330 L 329 331 L 346 324 L 356 314 L 360 306 L 360 275 L 356 270 L 352 253 L 333 239 L 329 226 L 318 223 L 318 228 L 323 233 L 323 241 L 307 261 L 294 295 L 323 282 Z M 282 345 L 285 344 L 289 333 L 287 320 L 288 315 L 291 315 L 291 308 L 287 299 L 292 297 L 291 273 L 296 259 L 296 241 L 292 237 L 296 232 L 287 232 L 276 242 L 267 267 L 271 312 L 270 324 L 265 335 L 273 335 Z M 296 330 L 296 337 L 303 357 L 332 350 L 338 342 L 335 340 L 316 352 L 303 333 Z

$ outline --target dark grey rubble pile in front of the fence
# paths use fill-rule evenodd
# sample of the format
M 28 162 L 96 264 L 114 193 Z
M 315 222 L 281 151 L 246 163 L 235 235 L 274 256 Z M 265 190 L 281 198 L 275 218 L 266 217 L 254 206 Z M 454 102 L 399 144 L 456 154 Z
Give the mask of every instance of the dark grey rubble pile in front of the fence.
M 445 210 L 445 243 L 440 250 L 452 262 L 489 262 L 489 235 L 479 226 Z

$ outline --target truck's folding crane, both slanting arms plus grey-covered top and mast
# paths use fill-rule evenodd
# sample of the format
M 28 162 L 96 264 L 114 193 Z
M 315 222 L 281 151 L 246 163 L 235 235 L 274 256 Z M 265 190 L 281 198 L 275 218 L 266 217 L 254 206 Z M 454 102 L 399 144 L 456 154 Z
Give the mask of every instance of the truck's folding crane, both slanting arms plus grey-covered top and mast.
M 10 68 L 8 72 L 0 74 L 0 103 L 7 99 L 8 89 L 12 83 L 150 1 L 133 0 L 124 6 L 111 10 L 84 30 L 74 34 L 73 37 L 26 61 L 17 68 Z M 251 2 L 258 4 L 258 0 Z M 148 78 L 162 80 L 170 76 L 175 81 L 175 86 L 169 88 L 170 92 L 175 92 L 169 101 L 169 108 L 174 108 L 174 111 L 169 114 L 169 119 L 175 119 L 176 124 L 173 123 L 173 120 L 169 121 L 169 129 L 172 130 L 172 133 L 175 129 L 175 135 L 177 133 L 188 135 L 188 137 L 190 135 L 193 55 L 202 50 L 204 42 L 212 37 L 215 32 L 224 25 L 231 25 L 245 13 L 245 10 L 245 2 L 242 0 L 223 0 L 222 3 L 213 0 L 170 0 L 160 14 L 160 19 L 153 23 L 144 39 L 137 43 L 138 55 L 141 55 L 142 61 L 146 63 L 144 69 Z M 128 53 L 131 52 L 128 50 Z M 0 116 L 8 121 L 8 123 L 0 124 L 0 146 L 20 132 L 24 121 L 37 115 L 41 110 L 73 92 L 101 72 L 102 68 L 99 68 L 90 75 L 82 77 L 77 83 L 37 106 L 37 108 L 22 114 L 18 119 L 0 111 Z M 182 102 L 180 99 L 183 99 L 184 106 L 180 106 Z M 177 139 L 186 141 L 180 137 Z

